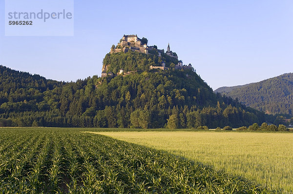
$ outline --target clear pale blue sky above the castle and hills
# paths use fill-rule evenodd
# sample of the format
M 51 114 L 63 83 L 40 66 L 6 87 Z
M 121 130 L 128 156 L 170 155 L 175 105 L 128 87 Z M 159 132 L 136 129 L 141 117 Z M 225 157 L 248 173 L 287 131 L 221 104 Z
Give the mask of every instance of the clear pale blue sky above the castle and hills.
M 293 72 L 293 0 L 75 0 L 73 37 L 5 37 L 0 13 L 0 64 L 45 78 L 100 76 L 124 34 L 169 42 L 213 89 Z

